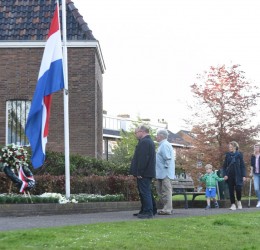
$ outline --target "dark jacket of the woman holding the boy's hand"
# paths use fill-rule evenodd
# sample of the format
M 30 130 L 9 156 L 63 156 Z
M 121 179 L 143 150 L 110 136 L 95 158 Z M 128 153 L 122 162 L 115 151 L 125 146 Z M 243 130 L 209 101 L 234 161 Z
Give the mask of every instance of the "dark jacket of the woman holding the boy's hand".
M 243 177 L 246 177 L 246 169 L 243 154 L 241 152 L 237 151 L 236 153 L 226 153 L 225 161 L 223 164 L 223 175 L 230 176 L 232 172 L 236 176 L 236 185 L 242 186 Z

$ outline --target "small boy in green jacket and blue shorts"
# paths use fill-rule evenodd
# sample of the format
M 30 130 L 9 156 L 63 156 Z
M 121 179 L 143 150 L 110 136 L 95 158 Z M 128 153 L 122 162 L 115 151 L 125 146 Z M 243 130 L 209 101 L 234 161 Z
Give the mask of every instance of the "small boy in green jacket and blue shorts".
M 219 208 L 218 202 L 216 200 L 216 185 L 217 181 L 223 181 L 224 178 L 218 177 L 218 175 L 213 172 L 213 167 L 210 164 L 205 166 L 206 174 L 200 177 L 200 181 L 206 183 L 206 198 L 207 206 L 205 209 L 210 209 L 210 200 L 212 199 L 215 205 L 215 208 Z

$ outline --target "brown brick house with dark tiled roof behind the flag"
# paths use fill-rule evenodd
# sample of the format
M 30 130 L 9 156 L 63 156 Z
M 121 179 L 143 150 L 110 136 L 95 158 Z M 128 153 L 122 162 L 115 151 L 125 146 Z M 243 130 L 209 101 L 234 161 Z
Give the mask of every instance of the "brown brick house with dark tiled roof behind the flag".
M 70 153 L 101 158 L 105 65 L 87 23 L 66 4 Z M 28 144 L 24 127 L 54 9 L 55 0 L 0 1 L 0 145 Z M 53 95 L 47 150 L 64 152 L 62 91 Z

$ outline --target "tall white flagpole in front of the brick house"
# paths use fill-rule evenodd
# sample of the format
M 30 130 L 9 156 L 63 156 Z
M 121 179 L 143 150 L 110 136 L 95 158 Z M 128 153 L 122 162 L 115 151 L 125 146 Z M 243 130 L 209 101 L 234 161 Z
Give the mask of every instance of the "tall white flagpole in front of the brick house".
M 68 58 L 67 58 L 67 26 L 66 0 L 62 0 L 62 40 L 63 40 L 63 72 L 64 72 L 64 145 L 65 145 L 65 184 L 66 198 L 70 198 L 70 149 L 69 149 L 69 91 L 68 91 Z

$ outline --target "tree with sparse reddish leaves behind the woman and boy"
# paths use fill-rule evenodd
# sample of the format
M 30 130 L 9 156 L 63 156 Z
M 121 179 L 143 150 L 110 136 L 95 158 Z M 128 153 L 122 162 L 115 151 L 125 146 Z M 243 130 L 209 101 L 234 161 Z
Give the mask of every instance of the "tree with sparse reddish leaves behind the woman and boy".
M 228 142 L 233 140 L 240 144 L 248 160 L 248 154 L 252 153 L 249 148 L 255 143 L 260 128 L 259 124 L 251 123 L 260 97 L 258 88 L 246 81 L 239 65 L 210 67 L 198 75 L 197 80 L 198 83 L 191 86 L 196 100 L 191 119 L 194 149 L 189 152 L 193 167 L 202 160 L 219 169 Z

